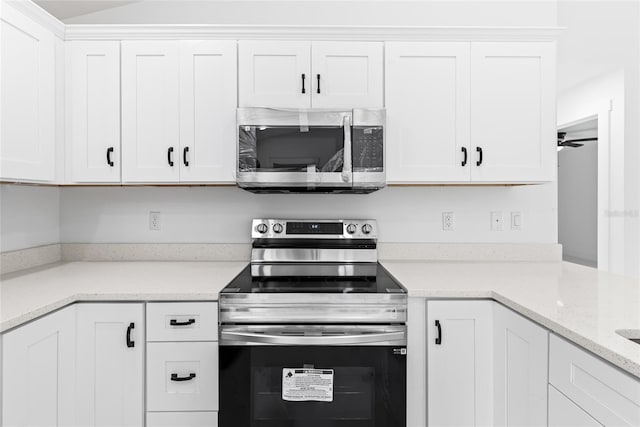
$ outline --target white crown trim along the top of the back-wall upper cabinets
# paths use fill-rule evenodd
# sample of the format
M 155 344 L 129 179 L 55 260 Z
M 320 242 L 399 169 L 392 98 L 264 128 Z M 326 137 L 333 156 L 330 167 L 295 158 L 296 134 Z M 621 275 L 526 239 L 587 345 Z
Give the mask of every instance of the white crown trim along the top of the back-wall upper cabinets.
M 66 40 L 553 41 L 559 27 L 333 25 L 67 25 Z

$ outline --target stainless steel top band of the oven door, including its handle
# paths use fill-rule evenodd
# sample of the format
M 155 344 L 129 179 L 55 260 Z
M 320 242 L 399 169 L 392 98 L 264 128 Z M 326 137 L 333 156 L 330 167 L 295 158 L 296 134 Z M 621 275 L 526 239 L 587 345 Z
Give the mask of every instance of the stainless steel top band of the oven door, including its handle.
M 407 345 L 406 326 L 223 326 L 220 345 Z

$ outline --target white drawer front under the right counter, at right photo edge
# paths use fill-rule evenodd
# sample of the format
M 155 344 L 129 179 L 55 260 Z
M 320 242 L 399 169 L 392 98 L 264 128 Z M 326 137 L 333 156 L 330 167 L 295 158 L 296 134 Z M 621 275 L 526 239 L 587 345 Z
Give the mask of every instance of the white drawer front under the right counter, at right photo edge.
M 640 381 L 555 335 L 549 382 L 605 426 L 640 425 Z

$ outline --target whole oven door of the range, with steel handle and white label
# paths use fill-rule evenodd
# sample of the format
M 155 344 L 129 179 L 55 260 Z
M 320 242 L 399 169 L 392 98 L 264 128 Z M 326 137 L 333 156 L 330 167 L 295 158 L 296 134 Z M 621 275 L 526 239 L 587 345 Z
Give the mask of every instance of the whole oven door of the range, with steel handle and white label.
M 223 326 L 219 424 L 405 426 L 405 326 Z

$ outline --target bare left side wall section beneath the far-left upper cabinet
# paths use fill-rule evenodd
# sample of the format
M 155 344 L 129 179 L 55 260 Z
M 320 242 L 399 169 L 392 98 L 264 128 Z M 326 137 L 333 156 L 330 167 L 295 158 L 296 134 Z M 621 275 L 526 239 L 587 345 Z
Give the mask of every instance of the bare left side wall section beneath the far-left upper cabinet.
M 60 189 L 0 185 L 0 251 L 60 242 Z

